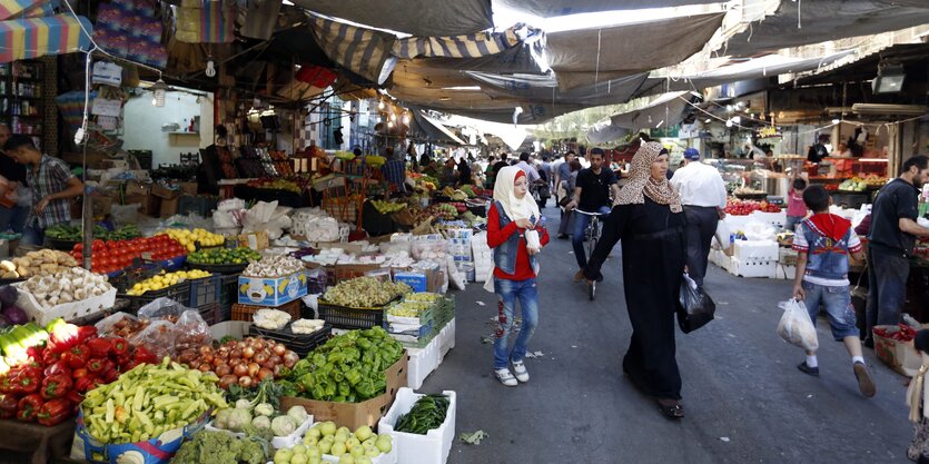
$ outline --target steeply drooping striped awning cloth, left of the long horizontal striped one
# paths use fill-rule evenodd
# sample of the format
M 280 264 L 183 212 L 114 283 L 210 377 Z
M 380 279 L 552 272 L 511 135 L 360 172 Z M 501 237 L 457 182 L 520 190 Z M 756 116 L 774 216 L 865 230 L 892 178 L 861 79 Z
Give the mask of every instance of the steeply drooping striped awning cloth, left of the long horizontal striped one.
M 312 19 L 310 30 L 329 59 L 345 69 L 378 85 L 391 75 L 394 36 L 319 17 Z

